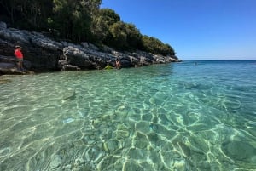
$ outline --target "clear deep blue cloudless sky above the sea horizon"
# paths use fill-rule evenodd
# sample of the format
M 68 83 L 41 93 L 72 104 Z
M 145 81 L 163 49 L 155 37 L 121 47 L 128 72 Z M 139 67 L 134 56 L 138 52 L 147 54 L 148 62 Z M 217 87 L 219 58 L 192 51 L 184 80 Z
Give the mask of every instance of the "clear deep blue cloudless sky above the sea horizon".
M 256 0 L 102 0 L 180 60 L 256 60 Z

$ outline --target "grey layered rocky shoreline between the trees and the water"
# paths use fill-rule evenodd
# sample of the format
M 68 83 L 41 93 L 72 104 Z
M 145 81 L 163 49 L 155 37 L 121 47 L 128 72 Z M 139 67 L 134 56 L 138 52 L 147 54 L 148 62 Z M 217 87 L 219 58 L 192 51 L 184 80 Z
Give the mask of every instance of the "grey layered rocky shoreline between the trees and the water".
M 25 72 L 17 71 L 15 45 L 22 47 Z M 43 33 L 8 28 L 0 21 L 0 75 L 30 74 L 41 71 L 80 71 L 114 66 L 119 58 L 122 67 L 148 66 L 178 62 L 177 56 L 162 56 L 143 51 L 119 52 L 107 46 L 97 48 L 91 43 L 56 41 Z

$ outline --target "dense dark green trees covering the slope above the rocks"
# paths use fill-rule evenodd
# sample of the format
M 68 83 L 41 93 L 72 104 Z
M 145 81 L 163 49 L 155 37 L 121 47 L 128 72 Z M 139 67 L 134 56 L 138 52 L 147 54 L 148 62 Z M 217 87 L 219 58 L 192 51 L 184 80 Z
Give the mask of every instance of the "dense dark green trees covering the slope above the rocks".
M 169 44 L 142 35 L 112 9 L 101 9 L 102 0 L 1 0 L 0 20 L 9 26 L 42 31 L 56 39 L 106 44 L 119 50 L 143 50 L 174 55 Z

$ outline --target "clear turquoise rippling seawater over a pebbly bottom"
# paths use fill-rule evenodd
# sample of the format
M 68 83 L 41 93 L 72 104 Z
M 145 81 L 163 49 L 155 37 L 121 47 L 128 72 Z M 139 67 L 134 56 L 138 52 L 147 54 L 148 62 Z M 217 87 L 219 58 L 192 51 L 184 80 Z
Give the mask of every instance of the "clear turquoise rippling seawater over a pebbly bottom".
M 0 77 L 0 170 L 255 170 L 256 60 Z

